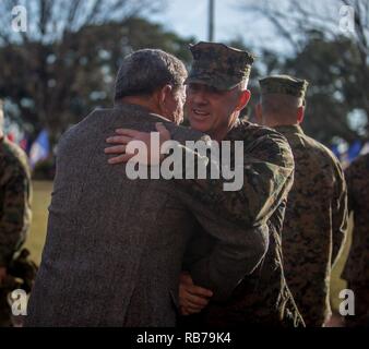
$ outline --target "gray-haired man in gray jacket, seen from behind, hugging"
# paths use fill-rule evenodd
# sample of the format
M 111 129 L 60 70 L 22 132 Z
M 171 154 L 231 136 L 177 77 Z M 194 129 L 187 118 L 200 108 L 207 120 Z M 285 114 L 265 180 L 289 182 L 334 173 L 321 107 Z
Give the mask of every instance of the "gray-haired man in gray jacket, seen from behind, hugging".
M 199 262 L 211 269 L 214 298 L 225 299 L 262 260 L 266 231 L 246 236 L 175 191 L 172 181 L 130 180 L 126 166 L 106 163 L 105 140 L 122 125 L 148 132 L 162 122 L 172 140 L 204 139 L 177 125 L 186 77 L 175 57 L 136 51 L 118 73 L 115 108 L 93 111 L 60 140 L 47 241 L 26 326 L 174 326 L 183 252 L 199 225 L 235 248 L 233 254 L 213 256 L 217 263 Z

